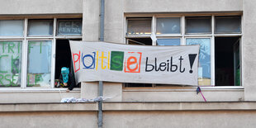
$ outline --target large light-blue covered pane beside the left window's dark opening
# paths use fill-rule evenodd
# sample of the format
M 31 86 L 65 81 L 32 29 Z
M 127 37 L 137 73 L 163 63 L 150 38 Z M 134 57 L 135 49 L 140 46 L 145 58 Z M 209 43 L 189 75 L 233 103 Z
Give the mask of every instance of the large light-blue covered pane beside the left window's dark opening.
M 27 87 L 50 87 L 51 41 L 29 41 Z

